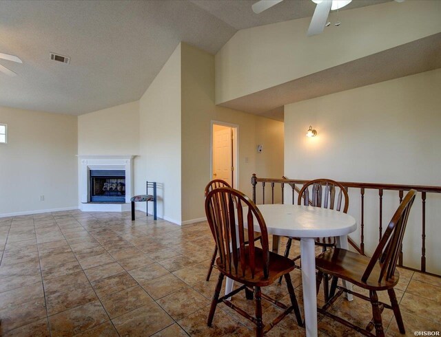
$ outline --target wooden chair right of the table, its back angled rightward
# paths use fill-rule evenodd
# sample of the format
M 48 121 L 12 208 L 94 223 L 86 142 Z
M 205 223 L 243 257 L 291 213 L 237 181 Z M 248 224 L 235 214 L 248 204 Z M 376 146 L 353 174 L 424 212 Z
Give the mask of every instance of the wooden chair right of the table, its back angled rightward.
M 407 219 L 416 193 L 415 190 L 411 190 L 407 193 L 406 197 L 404 197 L 395 215 L 393 215 L 391 222 L 389 222 L 389 226 L 387 226 L 382 235 L 380 243 L 378 243 L 371 259 L 341 248 L 331 248 L 322 252 L 322 254 L 316 258 L 316 268 L 318 269 L 317 292 L 323 274 L 333 276 L 330 292 L 331 297 L 321 309 L 318 309 L 318 312 L 330 318 L 334 318 L 334 320 L 337 320 L 339 323 L 356 329 L 366 336 L 374 336 L 370 332 L 373 327 L 376 329 L 376 336 L 384 336 L 381 313 L 386 307 L 393 310 L 400 333 L 405 333 L 400 307 L 398 306 L 393 287 L 395 287 L 400 279 L 400 274 L 396 270 L 396 264 L 398 256 L 400 255 L 400 247 L 404 237 Z M 363 289 L 369 290 L 369 297 L 338 286 L 338 279 L 349 281 Z M 338 292 L 336 294 L 337 289 Z M 378 301 L 377 292 L 379 290 L 387 290 L 391 305 Z M 327 312 L 327 309 L 331 307 L 332 303 L 334 303 L 343 292 L 353 294 L 354 296 L 371 302 L 373 318 L 365 329 L 357 327 L 347 320 Z

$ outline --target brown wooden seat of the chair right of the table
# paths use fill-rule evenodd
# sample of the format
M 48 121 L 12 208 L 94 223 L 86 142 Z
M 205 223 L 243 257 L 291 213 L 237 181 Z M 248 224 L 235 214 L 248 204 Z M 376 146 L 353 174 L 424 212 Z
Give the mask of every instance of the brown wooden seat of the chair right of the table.
M 378 281 L 382 267 L 380 263 L 373 266 L 369 279 L 366 282 L 362 281 L 362 276 L 365 274 L 369 262 L 371 262 L 371 258 L 365 255 L 350 250 L 331 248 L 316 258 L 316 268 L 324 274 L 350 281 L 359 287 L 369 287 L 371 290 L 388 290 L 398 283 L 398 279 L 400 279 L 398 270 L 395 270 L 391 279 Z

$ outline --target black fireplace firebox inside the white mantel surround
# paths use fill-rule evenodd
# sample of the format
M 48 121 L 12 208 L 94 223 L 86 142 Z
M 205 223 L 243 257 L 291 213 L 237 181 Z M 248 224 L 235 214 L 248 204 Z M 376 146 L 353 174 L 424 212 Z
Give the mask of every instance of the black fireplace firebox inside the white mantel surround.
M 125 202 L 124 170 L 90 170 L 91 202 Z

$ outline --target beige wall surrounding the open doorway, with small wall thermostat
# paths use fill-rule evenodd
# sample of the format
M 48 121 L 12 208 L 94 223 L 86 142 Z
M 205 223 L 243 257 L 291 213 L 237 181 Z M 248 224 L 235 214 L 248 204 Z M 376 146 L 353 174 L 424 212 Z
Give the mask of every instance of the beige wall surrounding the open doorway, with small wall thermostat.
M 283 175 L 283 123 L 214 105 L 214 56 L 182 43 L 183 224 L 205 217 L 203 191 L 211 180 L 211 122 L 238 125 L 239 189 L 252 195 L 252 173 Z M 264 153 L 257 153 L 263 144 Z M 247 161 L 245 160 L 247 158 Z

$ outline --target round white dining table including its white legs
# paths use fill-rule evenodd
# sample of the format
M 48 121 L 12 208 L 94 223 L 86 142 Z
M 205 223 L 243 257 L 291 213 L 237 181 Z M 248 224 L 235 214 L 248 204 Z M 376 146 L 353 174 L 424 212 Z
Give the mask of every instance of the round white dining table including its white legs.
M 289 204 L 258 205 L 265 219 L 269 235 L 273 235 L 273 251 L 278 252 L 279 238 L 300 238 L 302 259 L 303 307 L 307 336 L 317 336 L 317 296 L 316 296 L 316 237 L 336 237 L 338 248 L 348 249 L 347 235 L 357 228 L 356 219 L 346 213 L 327 208 Z M 245 210 L 244 210 L 245 212 Z M 254 231 L 260 232 L 257 221 Z M 232 290 L 232 280 L 227 279 L 225 294 Z M 351 289 L 351 284 L 343 286 Z M 351 296 L 348 297 L 351 299 Z

